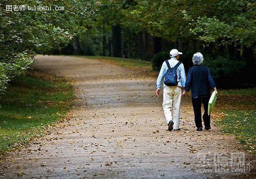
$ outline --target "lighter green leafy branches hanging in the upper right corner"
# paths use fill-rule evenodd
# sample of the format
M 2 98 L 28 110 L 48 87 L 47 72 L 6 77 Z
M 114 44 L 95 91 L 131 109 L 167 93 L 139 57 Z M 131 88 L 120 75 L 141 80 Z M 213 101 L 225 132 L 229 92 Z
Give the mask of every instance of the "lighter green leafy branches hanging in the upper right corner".
M 206 43 L 251 47 L 256 40 L 256 3 L 251 1 L 202 1 L 183 10 L 190 32 Z M 204 11 L 207 9 L 207 11 Z

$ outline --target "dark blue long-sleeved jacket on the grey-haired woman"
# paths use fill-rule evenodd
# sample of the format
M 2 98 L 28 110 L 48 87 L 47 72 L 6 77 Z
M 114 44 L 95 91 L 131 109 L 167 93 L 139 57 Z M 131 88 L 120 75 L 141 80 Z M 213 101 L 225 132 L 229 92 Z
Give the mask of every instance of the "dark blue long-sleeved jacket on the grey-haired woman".
M 204 65 L 195 65 L 189 69 L 185 91 L 191 88 L 193 98 L 210 96 L 210 89 L 216 87 L 210 70 Z

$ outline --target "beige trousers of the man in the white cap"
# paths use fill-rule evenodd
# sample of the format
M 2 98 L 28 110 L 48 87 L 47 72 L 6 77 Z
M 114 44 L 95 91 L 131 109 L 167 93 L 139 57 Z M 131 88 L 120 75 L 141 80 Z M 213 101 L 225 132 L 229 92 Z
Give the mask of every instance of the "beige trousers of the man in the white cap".
M 180 126 L 180 101 L 181 87 L 167 86 L 163 88 L 163 111 L 167 124 L 170 120 L 174 122 L 174 129 Z M 173 117 L 172 117 L 173 108 Z

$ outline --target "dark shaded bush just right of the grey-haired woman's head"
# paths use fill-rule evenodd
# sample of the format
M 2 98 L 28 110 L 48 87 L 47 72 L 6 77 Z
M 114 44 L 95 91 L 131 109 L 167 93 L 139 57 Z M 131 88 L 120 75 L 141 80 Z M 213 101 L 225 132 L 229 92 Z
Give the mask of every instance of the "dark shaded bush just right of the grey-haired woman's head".
M 204 65 L 208 66 L 212 77 L 215 79 L 231 77 L 244 74 L 244 60 L 230 60 L 228 56 L 204 57 Z

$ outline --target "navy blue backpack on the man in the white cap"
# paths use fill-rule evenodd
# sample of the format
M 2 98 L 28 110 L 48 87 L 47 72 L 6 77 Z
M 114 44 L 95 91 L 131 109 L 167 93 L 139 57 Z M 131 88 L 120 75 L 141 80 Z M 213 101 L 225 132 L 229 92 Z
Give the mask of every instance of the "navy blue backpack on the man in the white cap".
M 170 68 L 170 64 L 168 60 L 165 60 L 165 63 L 168 66 L 168 69 L 165 73 L 164 84 L 166 86 L 177 86 L 178 85 L 178 76 L 177 76 L 177 68 L 181 64 L 179 61 L 173 68 Z

